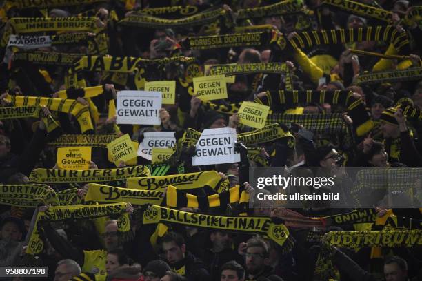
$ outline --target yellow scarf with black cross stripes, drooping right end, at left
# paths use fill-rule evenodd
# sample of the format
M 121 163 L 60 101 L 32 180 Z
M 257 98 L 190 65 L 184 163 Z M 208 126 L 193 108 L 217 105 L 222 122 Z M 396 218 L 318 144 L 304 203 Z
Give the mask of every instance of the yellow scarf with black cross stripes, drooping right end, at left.
M 17 106 L 43 105 L 52 111 L 70 113 L 77 118 L 78 123 L 81 126 L 81 132 L 94 129 L 88 107 L 76 100 L 43 98 L 41 96 L 6 96 L 6 101 Z

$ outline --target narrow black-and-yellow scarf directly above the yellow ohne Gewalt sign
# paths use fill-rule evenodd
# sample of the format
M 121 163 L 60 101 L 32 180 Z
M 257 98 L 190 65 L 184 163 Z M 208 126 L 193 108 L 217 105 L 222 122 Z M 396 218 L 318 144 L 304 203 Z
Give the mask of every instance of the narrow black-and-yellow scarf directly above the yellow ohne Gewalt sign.
M 107 145 L 116 138 L 118 137 L 115 134 L 63 134 L 48 145 L 52 147 L 90 146 L 107 148 Z

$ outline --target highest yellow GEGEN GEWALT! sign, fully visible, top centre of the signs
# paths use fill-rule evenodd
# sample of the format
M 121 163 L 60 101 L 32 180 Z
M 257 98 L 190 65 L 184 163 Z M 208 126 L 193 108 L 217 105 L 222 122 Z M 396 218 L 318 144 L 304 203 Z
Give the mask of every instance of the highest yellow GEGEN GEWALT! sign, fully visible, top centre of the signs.
M 203 101 L 228 98 L 225 76 L 194 77 L 194 94 Z

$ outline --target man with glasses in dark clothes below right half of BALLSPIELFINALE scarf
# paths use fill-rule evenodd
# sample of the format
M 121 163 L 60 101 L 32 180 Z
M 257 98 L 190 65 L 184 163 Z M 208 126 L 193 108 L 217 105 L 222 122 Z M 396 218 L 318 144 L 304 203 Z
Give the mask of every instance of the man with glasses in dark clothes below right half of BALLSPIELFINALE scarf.
M 268 257 L 270 251 L 268 245 L 261 238 L 251 238 L 247 242 L 245 256 L 246 272 L 248 273 L 246 280 L 268 280 L 283 281 L 277 275 L 274 275 L 274 270 L 269 264 Z

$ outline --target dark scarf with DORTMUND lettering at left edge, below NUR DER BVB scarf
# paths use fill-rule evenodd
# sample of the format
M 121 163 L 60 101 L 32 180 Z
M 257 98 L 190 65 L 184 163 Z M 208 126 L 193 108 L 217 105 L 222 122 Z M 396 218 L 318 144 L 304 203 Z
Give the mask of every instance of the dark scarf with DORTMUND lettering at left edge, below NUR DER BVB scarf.
M 40 204 L 59 205 L 56 192 L 48 185 L 0 185 L 0 203 L 17 207 L 37 207 Z

